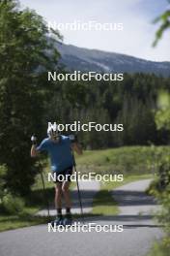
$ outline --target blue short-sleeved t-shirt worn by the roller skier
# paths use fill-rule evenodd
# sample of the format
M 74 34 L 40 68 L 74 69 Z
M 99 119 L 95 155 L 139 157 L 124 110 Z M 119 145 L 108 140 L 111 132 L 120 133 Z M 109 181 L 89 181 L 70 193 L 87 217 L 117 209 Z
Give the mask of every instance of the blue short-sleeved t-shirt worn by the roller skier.
M 47 151 L 51 160 L 52 172 L 60 173 L 73 165 L 71 140 L 67 136 L 61 136 L 59 143 L 46 138 L 37 147 L 37 150 Z

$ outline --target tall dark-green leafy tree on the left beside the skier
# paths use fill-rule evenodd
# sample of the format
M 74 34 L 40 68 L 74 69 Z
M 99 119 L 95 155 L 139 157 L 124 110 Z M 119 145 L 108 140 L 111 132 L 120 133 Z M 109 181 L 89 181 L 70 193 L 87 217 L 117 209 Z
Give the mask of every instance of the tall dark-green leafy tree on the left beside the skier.
M 17 1 L 0 2 L 0 164 L 7 166 L 6 186 L 20 194 L 29 192 L 39 170 L 29 138 L 42 133 L 45 72 L 58 56 L 41 16 L 20 11 Z

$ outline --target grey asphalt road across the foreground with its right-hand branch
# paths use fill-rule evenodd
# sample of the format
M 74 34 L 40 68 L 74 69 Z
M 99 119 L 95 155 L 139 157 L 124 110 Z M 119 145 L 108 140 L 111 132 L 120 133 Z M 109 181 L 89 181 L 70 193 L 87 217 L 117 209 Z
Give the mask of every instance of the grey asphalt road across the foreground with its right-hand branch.
M 22 228 L 0 233 L 0 256 L 144 256 L 153 240 L 162 236 L 151 219 L 155 202 L 144 193 L 149 182 L 132 182 L 113 192 L 120 215 L 86 219 L 102 227 L 123 225 L 123 232 L 48 232 L 47 225 Z

